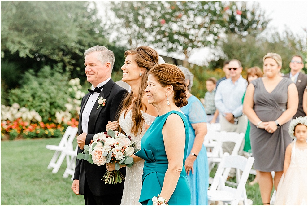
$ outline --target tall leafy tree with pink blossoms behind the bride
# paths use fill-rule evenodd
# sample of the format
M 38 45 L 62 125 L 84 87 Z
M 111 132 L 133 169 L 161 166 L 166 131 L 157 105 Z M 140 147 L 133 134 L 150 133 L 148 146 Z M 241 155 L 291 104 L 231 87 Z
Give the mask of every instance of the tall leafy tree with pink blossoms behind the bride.
M 117 31 L 119 40 L 126 40 L 131 47 L 146 44 L 168 52 L 184 53 L 184 66 L 187 66 L 194 48 L 214 48 L 225 31 L 244 35 L 266 26 L 262 13 L 257 15 L 254 8 L 250 10 L 245 4 L 241 12 L 234 13 L 231 12 L 235 9 L 233 4 L 230 7 L 221 1 L 112 2 L 111 11 L 120 26 L 111 24 L 110 28 Z M 110 22 L 115 21 L 114 16 L 110 18 Z

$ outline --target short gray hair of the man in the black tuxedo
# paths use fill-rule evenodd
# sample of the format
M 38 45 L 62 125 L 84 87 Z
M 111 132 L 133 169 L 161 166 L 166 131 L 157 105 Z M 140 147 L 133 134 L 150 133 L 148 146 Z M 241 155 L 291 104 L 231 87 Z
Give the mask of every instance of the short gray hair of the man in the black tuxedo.
M 113 53 L 113 51 L 107 49 L 105 46 L 93 46 L 87 50 L 85 50 L 85 56 L 90 54 L 90 53 L 93 53 L 93 52 L 97 52 L 99 51 L 99 55 L 98 55 L 98 60 L 102 63 L 102 64 L 105 64 L 106 62 L 110 62 L 111 64 L 111 71 L 112 72 L 112 69 L 113 69 L 113 65 L 115 64 L 115 55 Z

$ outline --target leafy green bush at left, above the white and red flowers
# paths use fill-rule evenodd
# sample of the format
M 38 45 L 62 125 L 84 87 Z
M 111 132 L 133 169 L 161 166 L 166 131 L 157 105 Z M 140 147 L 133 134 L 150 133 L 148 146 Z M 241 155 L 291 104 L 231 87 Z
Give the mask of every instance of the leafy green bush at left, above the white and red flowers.
M 32 70 L 25 73 L 23 86 L 9 93 L 10 104 L 18 103 L 21 107 L 34 109 L 43 122 L 54 119 L 56 111 L 65 111 L 69 96 L 67 73 L 62 73 L 62 65 L 51 69 L 43 67 L 37 74 Z

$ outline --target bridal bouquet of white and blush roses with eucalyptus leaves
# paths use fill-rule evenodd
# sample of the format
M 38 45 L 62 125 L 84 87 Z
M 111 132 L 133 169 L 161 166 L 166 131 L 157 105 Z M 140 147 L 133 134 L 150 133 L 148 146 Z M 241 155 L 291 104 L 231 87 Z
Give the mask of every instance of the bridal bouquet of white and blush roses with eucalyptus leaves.
M 84 146 L 84 151 L 77 155 L 77 159 L 84 159 L 98 166 L 106 163 L 115 164 L 115 170 L 106 171 L 102 180 L 105 184 L 121 183 L 124 177 L 119 171 L 120 165 L 131 167 L 134 164 L 134 159 L 130 157 L 137 152 L 134 145 L 135 142 L 132 142 L 130 136 L 108 130 L 95 134 L 90 145 Z

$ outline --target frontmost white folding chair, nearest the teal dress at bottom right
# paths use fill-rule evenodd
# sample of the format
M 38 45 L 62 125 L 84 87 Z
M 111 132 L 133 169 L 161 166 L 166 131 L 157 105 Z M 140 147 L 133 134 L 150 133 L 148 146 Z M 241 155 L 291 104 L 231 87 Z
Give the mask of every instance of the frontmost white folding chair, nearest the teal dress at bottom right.
M 224 204 L 230 205 L 238 205 L 239 201 L 243 201 L 244 205 L 248 205 L 245 184 L 253 164 L 253 157 L 247 159 L 240 155 L 224 153 L 215 173 L 213 183 L 207 191 L 209 205 L 210 201 L 222 201 Z M 236 188 L 225 185 L 231 168 L 242 171 Z

